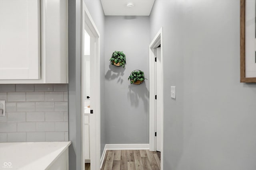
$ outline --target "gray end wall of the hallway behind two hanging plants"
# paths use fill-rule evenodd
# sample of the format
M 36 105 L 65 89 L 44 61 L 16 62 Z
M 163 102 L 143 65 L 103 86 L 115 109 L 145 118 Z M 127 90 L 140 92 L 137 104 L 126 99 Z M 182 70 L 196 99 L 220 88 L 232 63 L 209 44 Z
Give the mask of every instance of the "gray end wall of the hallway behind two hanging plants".
M 130 84 L 128 76 L 140 69 L 148 78 L 148 16 L 105 17 L 105 135 L 107 144 L 148 143 L 148 80 Z M 114 51 L 126 54 L 125 68 L 110 64 Z

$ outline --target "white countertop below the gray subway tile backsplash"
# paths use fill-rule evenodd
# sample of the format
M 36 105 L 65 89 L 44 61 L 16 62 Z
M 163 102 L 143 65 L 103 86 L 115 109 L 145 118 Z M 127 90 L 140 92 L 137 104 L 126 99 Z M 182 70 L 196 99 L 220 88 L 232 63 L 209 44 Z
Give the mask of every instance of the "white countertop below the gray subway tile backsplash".
M 70 144 L 70 141 L 0 143 L 0 170 L 45 170 Z

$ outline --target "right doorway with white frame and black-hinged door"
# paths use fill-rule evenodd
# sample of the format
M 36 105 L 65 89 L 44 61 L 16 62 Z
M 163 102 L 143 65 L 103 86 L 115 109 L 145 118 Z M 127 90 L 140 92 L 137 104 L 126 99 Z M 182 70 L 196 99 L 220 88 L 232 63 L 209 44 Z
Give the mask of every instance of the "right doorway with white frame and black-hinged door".
M 163 28 L 158 31 L 149 45 L 149 145 L 151 151 L 160 152 L 160 164 L 163 169 Z

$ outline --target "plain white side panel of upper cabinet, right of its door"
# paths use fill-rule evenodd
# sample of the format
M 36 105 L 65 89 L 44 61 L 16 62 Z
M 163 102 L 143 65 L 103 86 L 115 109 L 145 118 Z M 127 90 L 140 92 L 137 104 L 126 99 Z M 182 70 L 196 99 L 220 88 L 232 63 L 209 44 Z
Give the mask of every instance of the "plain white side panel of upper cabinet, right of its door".
M 68 9 L 66 0 L 43 1 L 46 82 L 67 83 Z

